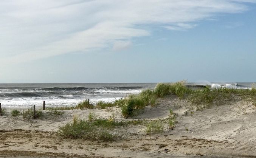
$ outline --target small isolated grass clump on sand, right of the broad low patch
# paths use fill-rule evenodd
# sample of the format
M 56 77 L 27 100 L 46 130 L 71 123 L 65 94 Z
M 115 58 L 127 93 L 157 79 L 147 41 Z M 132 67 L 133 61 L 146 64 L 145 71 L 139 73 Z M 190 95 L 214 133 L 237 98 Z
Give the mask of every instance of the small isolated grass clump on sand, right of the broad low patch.
M 161 120 L 150 121 L 146 125 L 147 134 L 163 132 L 164 123 Z

